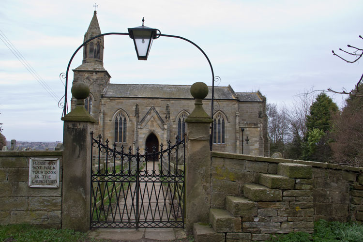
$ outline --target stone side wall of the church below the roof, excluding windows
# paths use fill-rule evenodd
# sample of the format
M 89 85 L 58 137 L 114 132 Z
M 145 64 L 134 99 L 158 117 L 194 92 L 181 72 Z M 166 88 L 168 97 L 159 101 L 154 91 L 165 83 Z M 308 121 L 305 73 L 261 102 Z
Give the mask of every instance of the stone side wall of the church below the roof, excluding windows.
M 138 118 L 135 115 L 138 104 Z M 166 106 L 169 106 L 169 117 L 166 117 Z M 214 151 L 242 153 L 241 127 L 244 127 L 243 139 L 248 136 L 248 143 L 243 140 L 243 153 L 264 155 L 264 140 L 262 118 L 259 111 L 261 102 L 240 103 L 238 100 L 216 100 L 214 109 L 225 118 L 225 144 L 214 144 Z M 153 107 L 153 108 L 152 108 Z M 210 101 L 205 100 L 203 107 L 210 112 Z M 178 119 L 184 112 L 189 115 L 194 108 L 193 99 L 157 99 L 157 98 L 103 98 L 101 101 L 102 120 L 95 129 L 95 134 L 102 134 L 104 140 L 111 144 L 115 142 L 115 116 L 123 112 L 127 117 L 127 138 L 124 143 L 117 143 L 117 147 L 145 148 L 145 140 L 150 133 L 158 137 L 159 145 L 167 140 L 175 141 L 178 135 Z M 239 114 L 239 119 L 237 115 Z M 101 120 L 100 116 L 100 120 Z M 95 116 L 94 116 L 95 117 Z M 97 133 L 98 132 L 98 133 Z

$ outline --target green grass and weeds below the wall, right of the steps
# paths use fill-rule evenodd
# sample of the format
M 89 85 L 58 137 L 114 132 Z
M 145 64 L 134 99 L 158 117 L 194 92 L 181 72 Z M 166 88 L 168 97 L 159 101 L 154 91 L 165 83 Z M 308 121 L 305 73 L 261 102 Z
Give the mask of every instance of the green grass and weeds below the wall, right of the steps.
M 314 233 L 303 232 L 278 235 L 272 242 L 363 242 L 363 225 L 354 222 L 328 222 L 323 219 L 314 223 Z

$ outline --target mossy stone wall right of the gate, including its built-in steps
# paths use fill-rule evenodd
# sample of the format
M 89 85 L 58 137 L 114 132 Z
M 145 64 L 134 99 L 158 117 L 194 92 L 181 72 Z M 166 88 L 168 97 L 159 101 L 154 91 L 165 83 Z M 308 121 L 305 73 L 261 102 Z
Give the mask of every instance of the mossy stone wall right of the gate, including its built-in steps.
M 260 241 L 313 233 L 319 219 L 363 221 L 363 167 L 213 151 L 211 173 L 213 231 L 195 226 L 196 241 Z

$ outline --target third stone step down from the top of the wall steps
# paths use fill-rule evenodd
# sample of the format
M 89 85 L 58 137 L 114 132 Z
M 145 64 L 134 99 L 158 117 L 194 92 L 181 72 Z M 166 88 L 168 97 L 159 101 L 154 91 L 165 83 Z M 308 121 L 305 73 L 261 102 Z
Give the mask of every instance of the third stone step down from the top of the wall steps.
M 272 189 L 257 184 L 245 184 L 243 186 L 243 195 L 255 202 L 282 201 L 280 189 Z

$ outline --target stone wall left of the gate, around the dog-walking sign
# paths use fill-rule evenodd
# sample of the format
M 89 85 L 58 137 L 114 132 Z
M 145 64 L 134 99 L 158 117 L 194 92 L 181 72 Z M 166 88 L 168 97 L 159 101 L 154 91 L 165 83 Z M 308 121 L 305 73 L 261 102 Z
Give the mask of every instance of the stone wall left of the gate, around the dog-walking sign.
M 30 157 L 60 159 L 58 188 L 29 187 Z M 62 151 L 0 151 L 0 225 L 61 227 Z

